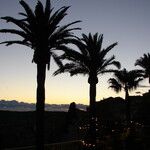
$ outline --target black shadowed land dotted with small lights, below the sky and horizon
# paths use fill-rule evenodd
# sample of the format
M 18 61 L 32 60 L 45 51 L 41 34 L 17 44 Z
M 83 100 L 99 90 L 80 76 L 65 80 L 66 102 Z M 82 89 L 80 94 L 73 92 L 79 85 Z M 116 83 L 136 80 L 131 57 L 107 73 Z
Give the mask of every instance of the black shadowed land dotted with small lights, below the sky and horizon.
M 125 101 L 122 98 L 97 102 L 97 149 L 149 150 L 149 107 L 149 93 L 132 96 L 131 123 L 127 125 Z M 60 145 L 63 149 L 70 148 L 71 145 L 73 149 L 91 149 L 88 144 L 87 114 L 75 107 L 70 107 L 68 112 L 46 112 L 45 144 L 55 149 L 60 149 Z M 35 145 L 35 112 L 0 111 L 0 118 L 1 149 Z

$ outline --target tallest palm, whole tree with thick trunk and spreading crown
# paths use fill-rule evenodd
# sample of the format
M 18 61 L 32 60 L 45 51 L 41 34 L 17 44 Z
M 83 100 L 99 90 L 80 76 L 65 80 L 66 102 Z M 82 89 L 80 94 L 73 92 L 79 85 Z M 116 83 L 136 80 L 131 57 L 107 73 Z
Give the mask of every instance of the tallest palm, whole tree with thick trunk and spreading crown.
M 1 33 L 11 33 L 19 35 L 22 39 L 1 42 L 6 46 L 21 44 L 34 50 L 33 62 L 37 64 L 37 92 L 36 92 L 36 145 L 37 149 L 44 149 L 44 105 L 45 105 L 45 78 L 46 66 L 50 67 L 51 56 L 56 59 L 52 50 L 57 49 L 64 43 L 69 43 L 75 38 L 71 25 L 80 21 L 75 21 L 67 25 L 60 25 L 60 22 L 67 15 L 69 7 L 61 7 L 53 12 L 50 0 L 46 0 L 45 8 L 38 1 L 34 12 L 24 1 L 19 1 L 24 12 L 19 13 L 23 19 L 16 19 L 10 16 L 2 17 L 6 22 L 15 24 L 19 29 L 1 29 Z

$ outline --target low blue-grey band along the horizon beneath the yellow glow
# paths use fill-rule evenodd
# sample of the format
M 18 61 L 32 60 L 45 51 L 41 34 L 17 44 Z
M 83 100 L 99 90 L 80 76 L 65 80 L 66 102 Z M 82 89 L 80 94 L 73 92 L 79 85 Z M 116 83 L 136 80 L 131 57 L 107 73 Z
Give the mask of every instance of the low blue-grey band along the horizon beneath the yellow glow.
M 70 104 L 46 104 L 46 111 L 68 111 Z M 86 105 L 77 104 L 77 108 L 81 110 L 86 110 Z M 0 110 L 9 110 L 9 111 L 34 111 L 34 103 L 24 103 L 18 102 L 16 100 L 0 100 Z

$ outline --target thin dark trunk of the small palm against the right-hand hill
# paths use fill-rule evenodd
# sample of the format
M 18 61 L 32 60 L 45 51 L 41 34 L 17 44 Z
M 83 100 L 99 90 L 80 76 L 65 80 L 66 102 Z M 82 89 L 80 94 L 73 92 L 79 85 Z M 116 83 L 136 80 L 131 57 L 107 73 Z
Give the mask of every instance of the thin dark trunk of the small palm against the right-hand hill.
M 127 124 L 129 125 L 131 121 L 131 111 L 130 111 L 129 91 L 127 88 L 125 89 L 125 101 L 126 101 L 126 120 L 127 120 Z

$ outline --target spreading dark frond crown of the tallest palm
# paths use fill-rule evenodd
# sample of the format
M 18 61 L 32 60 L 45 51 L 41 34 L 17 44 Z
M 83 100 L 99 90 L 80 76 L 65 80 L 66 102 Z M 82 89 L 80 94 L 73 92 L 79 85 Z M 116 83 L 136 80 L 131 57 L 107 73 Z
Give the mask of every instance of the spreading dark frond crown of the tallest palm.
M 44 62 L 49 64 L 51 49 L 57 48 L 58 45 L 69 43 L 71 38 L 75 37 L 70 31 L 80 28 L 68 28 L 69 26 L 79 22 L 75 21 L 70 24 L 59 26 L 59 23 L 67 15 L 66 11 L 69 7 L 61 7 L 56 12 L 52 12 L 50 0 L 46 1 L 45 8 L 38 1 L 35 11 L 28 4 L 21 0 L 21 6 L 25 12 L 19 13 L 24 19 L 15 19 L 10 16 L 2 17 L 3 20 L 17 25 L 17 29 L 1 29 L 0 32 L 17 34 L 23 40 L 5 41 L 1 44 L 7 46 L 11 44 L 22 44 L 31 47 L 35 50 L 33 61 L 35 63 Z

